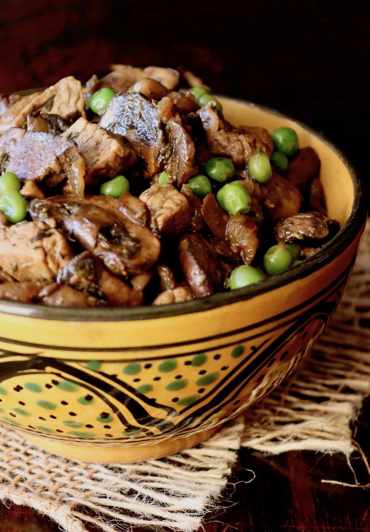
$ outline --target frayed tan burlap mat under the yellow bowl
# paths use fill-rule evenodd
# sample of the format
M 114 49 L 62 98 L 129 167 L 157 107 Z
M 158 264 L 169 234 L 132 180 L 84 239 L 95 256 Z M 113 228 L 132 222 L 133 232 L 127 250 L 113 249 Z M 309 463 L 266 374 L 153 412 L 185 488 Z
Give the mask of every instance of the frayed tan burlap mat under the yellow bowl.
M 352 423 L 370 393 L 370 223 L 330 326 L 292 377 L 205 444 L 126 465 L 73 462 L 0 428 L 0 498 L 50 516 L 67 532 L 94 523 L 191 532 L 219 499 L 240 446 L 350 455 Z M 258 474 L 258 472 L 256 472 Z M 93 517 L 92 517 L 93 516 Z

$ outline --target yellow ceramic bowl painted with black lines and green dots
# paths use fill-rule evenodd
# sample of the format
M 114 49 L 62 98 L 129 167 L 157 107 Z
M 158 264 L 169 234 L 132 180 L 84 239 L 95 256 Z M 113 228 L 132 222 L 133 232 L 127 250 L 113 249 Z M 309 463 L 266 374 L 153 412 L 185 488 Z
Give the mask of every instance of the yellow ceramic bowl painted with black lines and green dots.
M 299 267 L 202 300 L 104 310 L 0 302 L 0 421 L 40 447 L 124 462 L 197 444 L 277 386 L 338 305 L 366 217 L 353 169 L 302 124 L 220 101 L 232 123 L 291 126 L 316 150 L 342 229 Z

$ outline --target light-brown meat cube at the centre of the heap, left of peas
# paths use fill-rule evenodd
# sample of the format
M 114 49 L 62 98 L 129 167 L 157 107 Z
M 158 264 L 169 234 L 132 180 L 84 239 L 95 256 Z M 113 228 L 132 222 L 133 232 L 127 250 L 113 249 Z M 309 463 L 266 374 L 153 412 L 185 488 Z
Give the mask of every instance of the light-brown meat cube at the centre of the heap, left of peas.
M 174 185 L 152 185 L 139 200 L 150 210 L 151 227 L 161 235 L 178 236 L 188 228 L 192 211 Z

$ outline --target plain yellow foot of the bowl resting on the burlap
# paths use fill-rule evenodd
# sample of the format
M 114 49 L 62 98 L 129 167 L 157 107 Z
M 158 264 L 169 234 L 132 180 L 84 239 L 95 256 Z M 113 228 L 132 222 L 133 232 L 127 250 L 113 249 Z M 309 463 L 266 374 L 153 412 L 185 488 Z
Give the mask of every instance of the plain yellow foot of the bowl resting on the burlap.
M 71 460 L 81 460 L 84 462 L 101 463 L 128 463 L 148 460 L 152 458 L 163 458 L 170 454 L 183 451 L 186 448 L 194 447 L 204 442 L 215 434 L 222 425 L 217 425 L 199 433 L 182 438 L 171 439 L 168 442 L 160 442 L 152 445 L 135 445 L 132 447 L 93 447 L 78 446 L 65 443 L 51 442 L 44 438 L 27 436 L 27 439 L 42 448 L 44 451 L 69 458 Z

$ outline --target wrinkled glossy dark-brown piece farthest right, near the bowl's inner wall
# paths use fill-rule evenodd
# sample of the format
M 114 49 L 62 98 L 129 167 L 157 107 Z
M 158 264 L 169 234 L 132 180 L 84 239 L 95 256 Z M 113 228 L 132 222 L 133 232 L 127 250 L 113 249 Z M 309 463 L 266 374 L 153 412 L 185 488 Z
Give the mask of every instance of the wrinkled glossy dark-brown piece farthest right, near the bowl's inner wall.
M 315 211 L 295 214 L 279 221 L 275 227 L 277 242 L 293 242 L 296 238 L 325 238 L 328 232 L 325 217 Z

